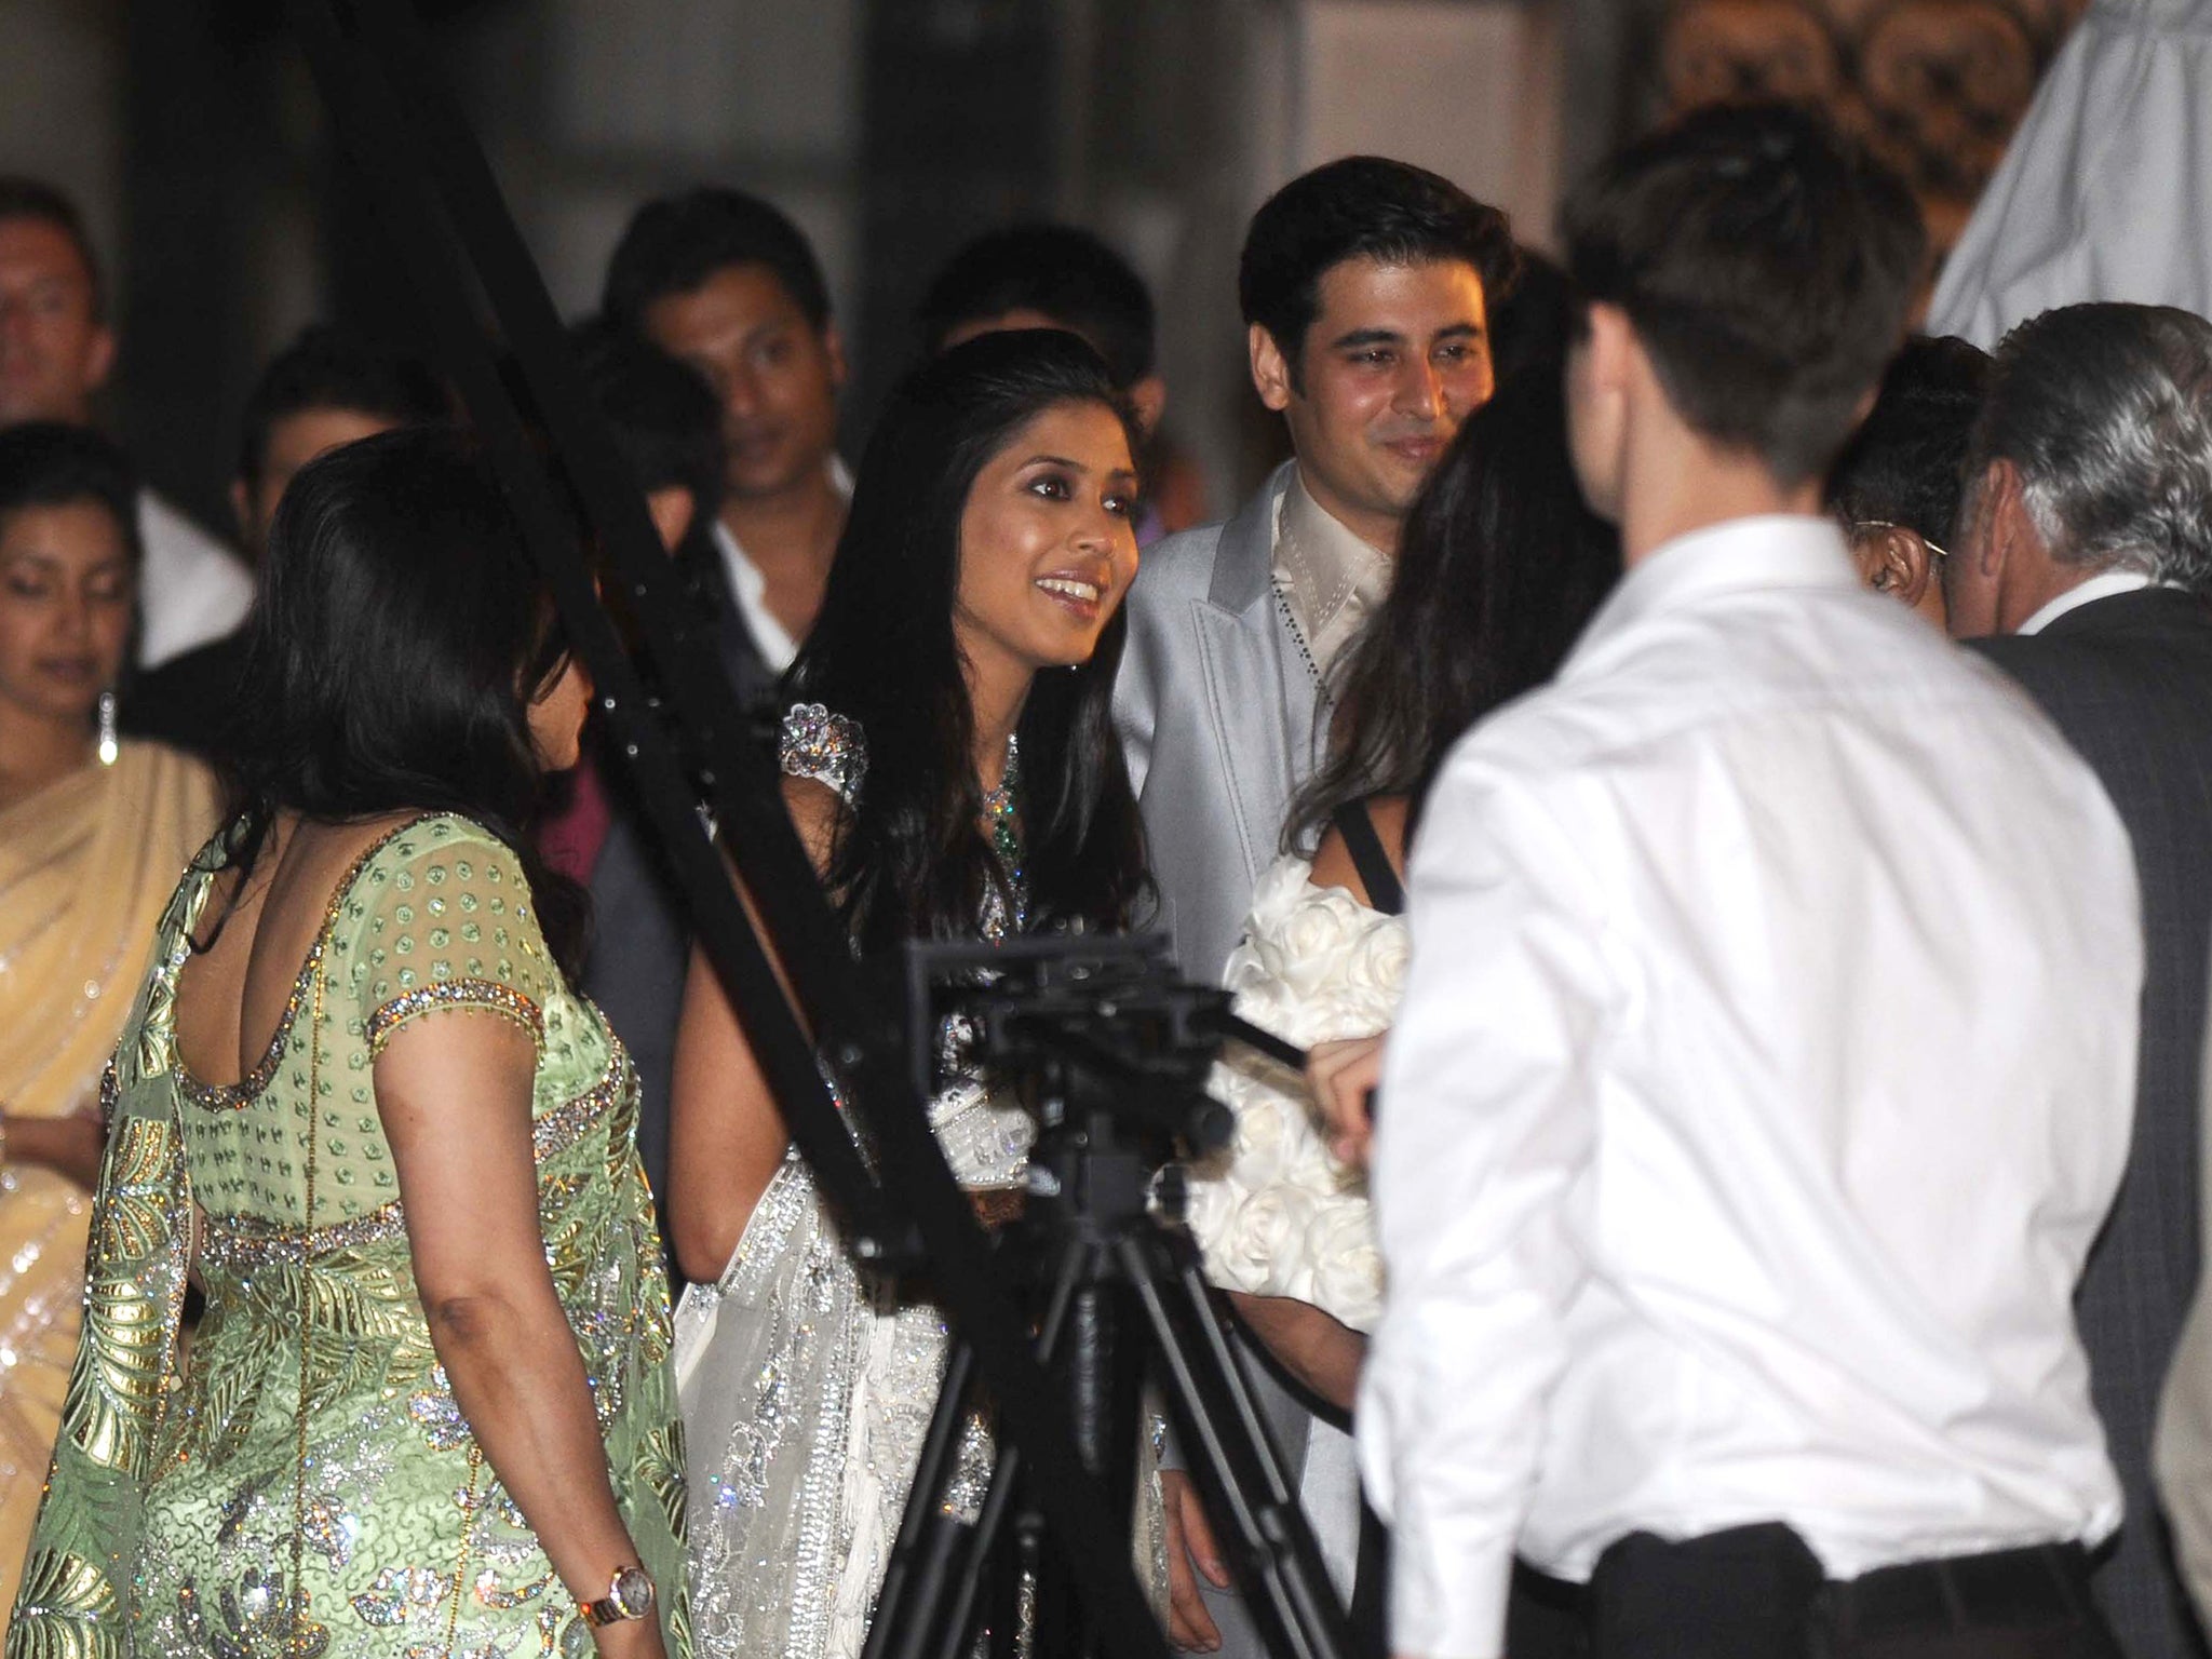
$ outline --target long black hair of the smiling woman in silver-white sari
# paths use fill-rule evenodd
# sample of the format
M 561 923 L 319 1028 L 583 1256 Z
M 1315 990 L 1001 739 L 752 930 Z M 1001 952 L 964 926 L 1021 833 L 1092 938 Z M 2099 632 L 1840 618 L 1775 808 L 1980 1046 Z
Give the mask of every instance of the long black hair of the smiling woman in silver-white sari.
M 984 465 L 1068 403 L 1113 409 L 1135 451 L 1135 420 L 1097 352 L 1057 330 L 984 334 L 898 385 L 860 460 L 821 617 L 785 690 L 867 737 L 867 783 L 827 872 L 863 949 L 973 936 L 984 894 L 1002 883 L 978 827 L 973 710 L 953 637 L 960 518 Z M 1091 661 L 1037 675 L 1022 706 L 1033 931 L 1126 927 L 1148 894 L 1110 714 L 1126 633 L 1115 613 Z

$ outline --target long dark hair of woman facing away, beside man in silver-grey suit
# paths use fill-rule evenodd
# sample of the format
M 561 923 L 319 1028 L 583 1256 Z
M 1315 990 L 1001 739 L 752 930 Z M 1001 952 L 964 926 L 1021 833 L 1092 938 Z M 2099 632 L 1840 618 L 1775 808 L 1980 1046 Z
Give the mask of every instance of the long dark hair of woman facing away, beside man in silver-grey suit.
M 1542 686 L 1621 575 L 1621 538 L 1582 502 L 1557 363 L 1533 363 L 1467 416 L 1398 540 L 1389 599 L 1338 690 L 1338 739 L 1298 790 L 1285 845 L 1329 814 L 1411 794 L 1407 836 L 1453 741 Z

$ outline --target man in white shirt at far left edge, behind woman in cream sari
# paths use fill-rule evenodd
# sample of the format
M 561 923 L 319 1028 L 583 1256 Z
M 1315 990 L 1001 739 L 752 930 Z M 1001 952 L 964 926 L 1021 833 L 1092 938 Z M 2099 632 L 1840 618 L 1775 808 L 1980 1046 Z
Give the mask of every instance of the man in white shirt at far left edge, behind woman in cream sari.
M 75 204 L 0 177 L 0 427 L 93 422 L 115 367 L 100 261 Z M 139 668 L 237 628 L 254 599 L 246 564 L 153 489 L 139 489 Z

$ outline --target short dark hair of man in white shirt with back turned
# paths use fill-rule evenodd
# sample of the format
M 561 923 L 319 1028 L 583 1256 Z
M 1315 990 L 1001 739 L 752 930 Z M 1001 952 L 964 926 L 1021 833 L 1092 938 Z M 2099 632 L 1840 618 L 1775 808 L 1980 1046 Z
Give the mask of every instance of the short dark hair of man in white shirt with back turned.
M 1566 268 L 1668 400 L 1781 484 L 1818 478 L 1905 336 L 1927 250 L 1905 181 L 1818 115 L 1701 108 L 1568 197 Z

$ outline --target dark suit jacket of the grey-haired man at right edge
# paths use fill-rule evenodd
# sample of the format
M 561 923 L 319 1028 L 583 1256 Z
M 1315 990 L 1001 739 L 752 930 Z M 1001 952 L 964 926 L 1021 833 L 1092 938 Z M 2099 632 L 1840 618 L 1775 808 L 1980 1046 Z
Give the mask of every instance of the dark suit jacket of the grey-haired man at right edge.
M 1975 639 L 2081 752 L 2135 841 L 2143 1033 L 2135 1141 L 2081 1276 L 2090 1394 L 2128 1500 L 2097 1575 L 2126 1652 L 2201 1652 L 2150 1484 L 2150 1431 L 2197 1287 L 2197 1079 L 2212 960 L 2212 608 L 2174 588 L 2093 599 L 2037 635 Z

